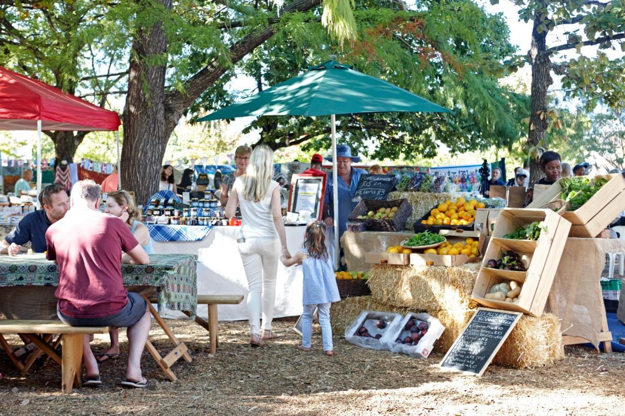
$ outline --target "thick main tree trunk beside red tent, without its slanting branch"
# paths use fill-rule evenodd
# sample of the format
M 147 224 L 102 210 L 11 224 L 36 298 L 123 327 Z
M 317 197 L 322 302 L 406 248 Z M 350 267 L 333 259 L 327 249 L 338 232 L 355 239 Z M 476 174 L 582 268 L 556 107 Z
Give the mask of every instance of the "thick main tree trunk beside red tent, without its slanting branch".
M 171 10 L 172 0 L 157 0 Z M 165 132 L 165 66 L 146 58 L 167 52 L 161 23 L 139 29 L 133 41 L 124 107 L 124 143 L 121 152 L 122 187 L 134 191 L 137 204 L 146 204 L 158 191 L 161 162 L 169 134 Z

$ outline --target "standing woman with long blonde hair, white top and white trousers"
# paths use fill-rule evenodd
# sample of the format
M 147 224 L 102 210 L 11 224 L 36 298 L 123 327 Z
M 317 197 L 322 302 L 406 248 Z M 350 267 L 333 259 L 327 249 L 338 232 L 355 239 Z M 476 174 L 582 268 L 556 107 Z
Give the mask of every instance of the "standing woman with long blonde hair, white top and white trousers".
M 277 338 L 271 330 L 276 302 L 276 275 L 280 256 L 291 258 L 282 223 L 279 185 L 271 179 L 273 151 L 254 147 L 244 175 L 237 177 L 226 204 L 226 217 L 241 208 L 241 234 L 237 243 L 247 277 L 249 344 L 262 347 L 264 340 Z M 262 335 L 261 335 L 262 310 Z

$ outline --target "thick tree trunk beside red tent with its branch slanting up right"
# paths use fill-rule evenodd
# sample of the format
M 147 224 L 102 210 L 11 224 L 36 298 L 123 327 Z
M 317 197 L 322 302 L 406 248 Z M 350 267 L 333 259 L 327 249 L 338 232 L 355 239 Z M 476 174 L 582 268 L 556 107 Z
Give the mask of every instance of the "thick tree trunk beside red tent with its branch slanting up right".
M 171 0 L 158 0 L 171 9 Z M 282 9 L 304 12 L 321 4 L 321 0 L 296 0 Z M 270 24 L 252 32 L 230 47 L 231 62 L 236 64 L 276 32 Z M 217 81 L 226 71 L 216 60 L 192 76 L 186 91 L 164 93 L 164 66 L 150 66 L 144 57 L 164 54 L 167 39 L 160 24 L 146 27 L 133 41 L 128 77 L 128 94 L 124 107 L 124 147 L 121 153 L 121 181 L 124 189 L 134 191 L 138 204 L 146 204 L 158 189 L 161 162 L 169 136 L 184 110 Z

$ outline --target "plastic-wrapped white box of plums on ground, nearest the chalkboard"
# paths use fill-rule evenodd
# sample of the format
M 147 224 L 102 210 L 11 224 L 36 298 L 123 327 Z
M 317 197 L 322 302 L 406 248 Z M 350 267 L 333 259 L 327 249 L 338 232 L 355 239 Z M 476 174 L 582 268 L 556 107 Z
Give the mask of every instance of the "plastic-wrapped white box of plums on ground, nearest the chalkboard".
M 444 330 L 438 319 L 409 312 L 381 340 L 387 350 L 426 359 Z

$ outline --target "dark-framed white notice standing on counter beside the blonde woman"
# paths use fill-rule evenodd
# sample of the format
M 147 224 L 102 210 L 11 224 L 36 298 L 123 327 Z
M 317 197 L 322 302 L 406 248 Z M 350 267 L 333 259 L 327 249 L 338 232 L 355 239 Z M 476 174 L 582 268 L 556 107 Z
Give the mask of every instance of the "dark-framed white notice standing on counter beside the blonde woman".
M 294 174 L 289 187 L 289 212 L 310 211 L 311 217 L 321 221 L 323 200 L 326 196 L 327 176 Z

